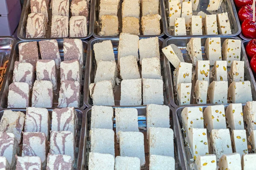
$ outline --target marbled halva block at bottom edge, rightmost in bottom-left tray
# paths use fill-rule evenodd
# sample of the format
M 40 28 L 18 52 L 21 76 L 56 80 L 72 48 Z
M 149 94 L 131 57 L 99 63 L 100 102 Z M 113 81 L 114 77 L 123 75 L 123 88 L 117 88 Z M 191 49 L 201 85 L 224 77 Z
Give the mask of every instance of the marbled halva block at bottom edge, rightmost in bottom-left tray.
M 72 159 L 68 155 L 49 154 L 47 156 L 47 170 L 72 170 Z

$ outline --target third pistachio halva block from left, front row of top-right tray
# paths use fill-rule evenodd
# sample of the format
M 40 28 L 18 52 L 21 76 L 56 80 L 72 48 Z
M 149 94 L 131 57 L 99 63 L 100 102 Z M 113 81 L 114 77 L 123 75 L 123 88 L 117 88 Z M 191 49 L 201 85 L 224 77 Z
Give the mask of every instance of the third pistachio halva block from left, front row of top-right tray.
M 205 20 L 204 20 L 204 28 L 205 28 L 205 33 L 207 35 L 216 35 L 216 34 L 218 34 L 216 14 L 206 15 Z

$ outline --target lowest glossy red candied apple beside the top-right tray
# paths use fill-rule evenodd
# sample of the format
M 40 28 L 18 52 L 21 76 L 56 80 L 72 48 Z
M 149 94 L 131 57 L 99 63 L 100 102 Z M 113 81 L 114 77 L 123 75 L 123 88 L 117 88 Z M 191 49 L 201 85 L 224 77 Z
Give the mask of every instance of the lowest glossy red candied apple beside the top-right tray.
M 256 22 L 252 18 L 247 18 L 242 23 L 242 34 L 246 38 L 256 38 Z

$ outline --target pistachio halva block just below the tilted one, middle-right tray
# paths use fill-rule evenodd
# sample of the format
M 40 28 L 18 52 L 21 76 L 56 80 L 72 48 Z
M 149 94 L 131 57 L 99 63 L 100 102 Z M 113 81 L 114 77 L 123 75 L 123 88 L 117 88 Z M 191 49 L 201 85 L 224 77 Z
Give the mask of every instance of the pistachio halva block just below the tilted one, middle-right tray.
M 174 71 L 174 82 L 177 89 L 180 82 L 189 83 L 192 81 L 192 64 L 180 62 Z

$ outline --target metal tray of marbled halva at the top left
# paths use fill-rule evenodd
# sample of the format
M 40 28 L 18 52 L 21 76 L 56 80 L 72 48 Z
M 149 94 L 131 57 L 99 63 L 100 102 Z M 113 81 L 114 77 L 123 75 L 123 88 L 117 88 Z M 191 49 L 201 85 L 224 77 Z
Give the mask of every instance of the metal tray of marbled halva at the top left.
M 70 0 L 71 2 L 71 0 Z M 87 0 L 88 2 L 88 0 Z M 28 20 L 28 15 L 31 13 L 30 10 L 30 0 L 24 0 L 24 4 L 23 4 L 23 9 L 21 12 L 21 16 L 20 16 L 20 22 L 19 22 L 19 26 L 17 29 L 17 37 L 20 40 L 48 40 L 48 39 L 56 39 L 56 40 L 63 40 L 64 38 L 77 38 L 77 39 L 88 39 L 89 37 L 91 37 L 93 35 L 93 2 L 94 0 L 90 0 L 90 4 L 89 6 L 89 11 L 90 11 L 90 15 L 89 15 L 89 22 L 87 22 L 87 36 L 86 37 L 58 37 L 58 38 L 52 38 L 51 37 L 51 27 L 52 27 L 52 9 L 49 9 L 49 22 L 48 22 L 48 29 L 46 32 L 46 37 L 45 38 L 26 38 L 26 25 L 27 25 L 27 20 Z M 71 13 L 70 13 L 71 16 Z

